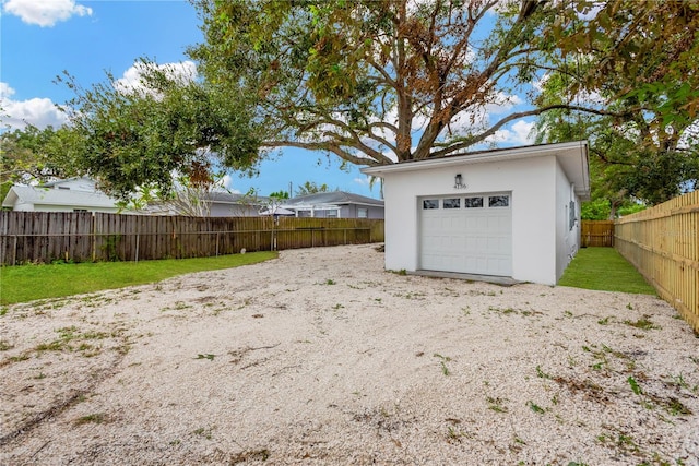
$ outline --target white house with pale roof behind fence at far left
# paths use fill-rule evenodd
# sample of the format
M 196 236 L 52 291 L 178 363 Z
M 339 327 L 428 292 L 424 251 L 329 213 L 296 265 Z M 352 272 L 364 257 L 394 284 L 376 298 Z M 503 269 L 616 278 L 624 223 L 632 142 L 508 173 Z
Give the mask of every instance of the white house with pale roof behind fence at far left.
M 27 212 L 107 212 L 119 211 L 117 200 L 98 191 L 88 178 L 70 178 L 40 187 L 13 186 L 2 208 Z

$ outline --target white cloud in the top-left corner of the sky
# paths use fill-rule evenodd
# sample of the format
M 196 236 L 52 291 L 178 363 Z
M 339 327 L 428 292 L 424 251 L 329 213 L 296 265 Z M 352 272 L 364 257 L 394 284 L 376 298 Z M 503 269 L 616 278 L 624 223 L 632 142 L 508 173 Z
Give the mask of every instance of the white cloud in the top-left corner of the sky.
M 42 27 L 51 27 L 73 15 L 92 15 L 91 8 L 76 4 L 74 0 L 5 0 L 2 11 Z

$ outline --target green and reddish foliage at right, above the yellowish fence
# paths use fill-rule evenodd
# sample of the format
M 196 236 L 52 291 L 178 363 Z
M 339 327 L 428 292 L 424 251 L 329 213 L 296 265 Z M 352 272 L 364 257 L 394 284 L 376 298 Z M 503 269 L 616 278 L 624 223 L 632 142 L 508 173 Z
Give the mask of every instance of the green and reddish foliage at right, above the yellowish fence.
M 569 36 L 562 23 L 546 32 L 564 67 L 547 75 L 537 105 L 594 100 L 602 111 L 540 116 L 537 141 L 590 140 L 593 200 L 606 199 L 611 216 L 629 199 L 655 204 L 696 189 L 699 83 L 689 57 L 699 50 L 699 5 L 577 5 Z

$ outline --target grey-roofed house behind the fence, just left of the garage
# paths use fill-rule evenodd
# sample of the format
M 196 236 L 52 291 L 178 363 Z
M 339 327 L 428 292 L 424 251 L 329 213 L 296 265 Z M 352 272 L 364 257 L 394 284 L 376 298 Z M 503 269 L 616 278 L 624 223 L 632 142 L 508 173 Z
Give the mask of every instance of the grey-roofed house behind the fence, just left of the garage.
M 383 218 L 383 201 L 344 191 L 319 192 L 282 201 L 297 217 Z

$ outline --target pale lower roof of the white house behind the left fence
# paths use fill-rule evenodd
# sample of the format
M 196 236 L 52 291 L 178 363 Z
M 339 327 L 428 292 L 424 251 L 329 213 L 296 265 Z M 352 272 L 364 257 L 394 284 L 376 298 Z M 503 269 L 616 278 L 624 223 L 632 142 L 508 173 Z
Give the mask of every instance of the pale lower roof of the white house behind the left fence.
M 116 208 L 117 200 L 102 192 L 64 190 L 28 186 L 13 186 L 2 202 L 3 207 L 17 203 L 39 205 L 69 205 L 75 208 Z

